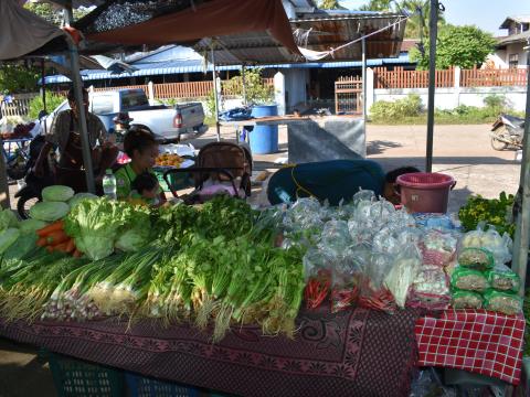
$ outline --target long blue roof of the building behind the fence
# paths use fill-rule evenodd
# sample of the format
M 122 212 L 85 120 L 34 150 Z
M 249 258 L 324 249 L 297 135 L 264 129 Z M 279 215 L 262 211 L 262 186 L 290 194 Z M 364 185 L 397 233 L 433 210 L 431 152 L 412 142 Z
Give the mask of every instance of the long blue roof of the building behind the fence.
M 96 81 L 96 79 L 113 79 L 113 78 L 128 78 L 128 77 L 141 77 L 141 76 L 159 76 L 183 73 L 203 73 L 204 64 L 202 57 L 191 49 L 169 46 L 166 50 L 157 51 L 155 54 L 146 56 L 135 55 L 126 58 L 129 65 L 137 68 L 132 73 L 116 74 L 110 71 L 82 71 L 83 81 Z M 132 61 L 132 62 L 131 62 Z M 395 65 L 395 64 L 409 64 L 410 58 L 407 54 L 402 54 L 396 58 L 378 58 L 367 60 L 369 67 L 382 66 L 382 65 Z M 259 65 L 261 68 L 330 68 L 330 67 L 360 67 L 362 63 L 360 61 L 352 62 L 308 62 L 296 64 L 273 64 L 273 65 Z M 252 66 L 251 66 L 252 67 Z M 212 72 L 212 64 L 208 64 L 206 72 Z M 239 71 L 240 65 L 232 66 L 216 66 L 218 71 Z M 70 78 L 63 75 L 46 76 L 45 84 L 68 83 Z

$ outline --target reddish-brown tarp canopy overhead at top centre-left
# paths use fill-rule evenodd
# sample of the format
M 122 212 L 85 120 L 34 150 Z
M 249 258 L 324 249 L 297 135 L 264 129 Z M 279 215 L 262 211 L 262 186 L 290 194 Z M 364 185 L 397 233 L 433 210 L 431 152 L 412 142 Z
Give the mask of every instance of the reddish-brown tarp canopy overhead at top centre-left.
M 76 29 L 88 45 L 193 44 L 203 37 L 261 34 L 301 57 L 280 0 L 125 1 L 105 3 Z M 287 49 L 287 50 L 286 50 Z

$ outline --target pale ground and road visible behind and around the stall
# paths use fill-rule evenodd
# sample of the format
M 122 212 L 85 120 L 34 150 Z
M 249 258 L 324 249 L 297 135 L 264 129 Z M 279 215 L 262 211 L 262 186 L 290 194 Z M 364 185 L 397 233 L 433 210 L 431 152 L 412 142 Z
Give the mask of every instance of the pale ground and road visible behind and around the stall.
M 436 126 L 434 135 L 433 170 L 453 175 L 457 185 L 451 194 L 449 212 L 456 212 L 469 194 L 495 197 L 501 191 L 517 191 L 520 163 L 513 151 L 498 152 L 489 146 L 489 126 Z M 223 127 L 223 139 L 234 139 L 233 128 Z M 377 160 L 384 170 L 403 165 L 425 168 L 425 126 L 372 126 L 367 127 L 368 158 Z M 191 141 L 195 148 L 215 140 L 210 129 L 203 137 Z M 286 128 L 279 131 L 280 151 L 255 155 L 255 178 L 262 171 L 274 172 L 280 167 L 275 161 L 286 158 Z M 14 194 L 17 185 L 11 186 Z M 264 203 L 258 185 L 253 190 L 254 203 Z M 11 201 L 14 206 L 14 200 Z M 31 346 L 14 344 L 0 339 L 0 397 L 55 396 L 47 364 L 36 357 Z

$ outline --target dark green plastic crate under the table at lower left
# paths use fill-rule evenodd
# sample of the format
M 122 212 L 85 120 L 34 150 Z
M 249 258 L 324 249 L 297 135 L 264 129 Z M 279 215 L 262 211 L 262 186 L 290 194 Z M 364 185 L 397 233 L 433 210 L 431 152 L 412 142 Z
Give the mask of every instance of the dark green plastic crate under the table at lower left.
M 124 378 L 119 371 L 47 353 L 53 383 L 60 397 L 121 397 Z

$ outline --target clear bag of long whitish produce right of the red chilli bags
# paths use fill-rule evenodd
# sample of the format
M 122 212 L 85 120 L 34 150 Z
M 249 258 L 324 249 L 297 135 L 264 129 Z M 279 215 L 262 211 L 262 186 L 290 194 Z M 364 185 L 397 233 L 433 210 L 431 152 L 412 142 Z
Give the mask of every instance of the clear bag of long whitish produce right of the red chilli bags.
M 389 289 L 400 308 L 405 307 L 409 288 L 416 278 L 422 266 L 420 251 L 413 244 L 407 244 L 395 258 L 395 261 L 384 278 L 384 286 Z

